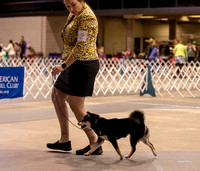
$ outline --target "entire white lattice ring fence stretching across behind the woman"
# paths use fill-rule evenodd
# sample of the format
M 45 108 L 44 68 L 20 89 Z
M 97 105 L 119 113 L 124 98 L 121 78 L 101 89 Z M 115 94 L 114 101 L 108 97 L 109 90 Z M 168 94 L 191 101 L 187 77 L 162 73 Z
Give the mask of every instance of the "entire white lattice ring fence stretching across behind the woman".
M 56 77 L 51 76 L 54 65 L 60 59 L 35 57 L 32 59 L 0 60 L 2 66 L 24 66 L 24 97 L 29 100 L 49 100 Z M 156 96 L 200 96 L 200 63 L 187 63 L 177 76 L 178 68 L 170 62 L 146 60 L 100 60 L 100 71 L 96 76 L 94 96 L 139 94 L 147 75 L 147 65 L 151 66 L 152 83 Z

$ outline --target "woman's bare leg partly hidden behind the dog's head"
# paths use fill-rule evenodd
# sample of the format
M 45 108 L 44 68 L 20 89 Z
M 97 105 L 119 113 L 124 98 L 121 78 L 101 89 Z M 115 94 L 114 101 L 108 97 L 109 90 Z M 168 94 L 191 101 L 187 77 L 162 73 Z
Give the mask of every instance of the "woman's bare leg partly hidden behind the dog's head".
M 85 97 L 69 96 L 69 105 L 71 107 L 71 110 L 75 114 L 78 122 L 83 120 L 84 116 L 87 114 L 84 103 Z M 90 146 L 94 145 L 97 141 L 97 135 L 95 134 L 95 132 L 91 130 L 85 131 L 85 133 L 89 139 Z

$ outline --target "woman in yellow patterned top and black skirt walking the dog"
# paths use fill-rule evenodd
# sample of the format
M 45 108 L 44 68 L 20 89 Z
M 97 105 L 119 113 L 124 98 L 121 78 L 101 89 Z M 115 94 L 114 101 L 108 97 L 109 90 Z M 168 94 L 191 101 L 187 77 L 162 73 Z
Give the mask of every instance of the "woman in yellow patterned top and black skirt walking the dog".
M 70 151 L 66 98 L 77 120 L 81 121 L 86 115 L 85 97 L 92 96 L 95 77 L 99 70 L 96 50 L 98 22 L 84 0 L 63 0 L 63 2 L 69 11 L 67 22 L 61 33 L 64 42 L 62 53 L 64 62 L 62 65 L 56 65 L 52 71 L 53 76 L 61 72 L 52 91 L 52 101 L 60 123 L 61 137 L 59 141 L 47 144 L 47 147 Z M 89 139 L 89 145 L 77 150 L 78 155 L 89 151 L 97 141 L 97 135 L 93 131 L 85 131 L 85 133 Z M 93 154 L 102 154 L 102 152 L 100 147 Z

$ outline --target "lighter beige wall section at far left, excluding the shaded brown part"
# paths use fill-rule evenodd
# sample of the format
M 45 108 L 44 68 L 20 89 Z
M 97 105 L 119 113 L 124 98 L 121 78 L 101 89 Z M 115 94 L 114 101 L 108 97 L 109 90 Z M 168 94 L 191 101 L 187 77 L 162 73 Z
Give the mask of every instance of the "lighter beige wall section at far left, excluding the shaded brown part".
M 41 49 L 42 17 L 0 18 L 0 42 L 7 46 L 9 40 L 19 42 L 23 35 L 37 51 Z

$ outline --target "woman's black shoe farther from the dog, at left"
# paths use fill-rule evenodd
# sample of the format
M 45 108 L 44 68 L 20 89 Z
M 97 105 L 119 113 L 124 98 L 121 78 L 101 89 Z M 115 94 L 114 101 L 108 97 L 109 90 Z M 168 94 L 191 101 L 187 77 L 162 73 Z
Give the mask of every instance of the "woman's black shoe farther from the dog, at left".
M 65 142 L 65 143 L 59 143 L 59 141 L 55 143 L 48 143 L 47 148 L 53 149 L 53 150 L 63 150 L 63 151 L 71 151 L 71 141 Z

